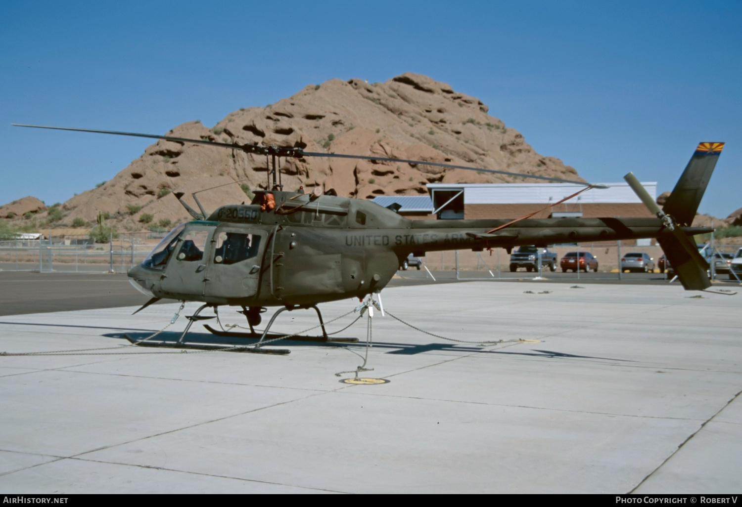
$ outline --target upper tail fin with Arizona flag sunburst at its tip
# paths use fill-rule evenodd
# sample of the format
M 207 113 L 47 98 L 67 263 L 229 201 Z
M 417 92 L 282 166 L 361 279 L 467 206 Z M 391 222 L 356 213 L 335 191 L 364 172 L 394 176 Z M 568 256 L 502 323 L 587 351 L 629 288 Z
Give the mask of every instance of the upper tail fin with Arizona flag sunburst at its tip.
M 693 153 L 663 208 L 677 225 L 692 224 L 723 148 L 723 142 L 702 142 Z

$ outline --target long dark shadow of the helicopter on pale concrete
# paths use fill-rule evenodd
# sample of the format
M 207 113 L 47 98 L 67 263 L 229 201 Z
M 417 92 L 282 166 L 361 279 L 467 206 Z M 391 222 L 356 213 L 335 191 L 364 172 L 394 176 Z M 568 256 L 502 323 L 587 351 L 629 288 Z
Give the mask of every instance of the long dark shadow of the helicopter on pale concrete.
M 103 334 L 102 336 L 116 339 L 126 339 L 125 335 L 128 335 L 131 339 L 145 339 L 151 336 L 151 333 L 109 333 Z M 280 338 L 281 334 L 268 334 L 266 340 Z M 164 342 L 166 344 L 174 345 L 180 338 L 180 333 L 177 331 L 165 331 L 157 335 L 157 342 Z M 212 345 L 214 347 L 232 347 L 232 346 L 246 346 L 253 345 L 257 342 L 258 337 L 255 338 L 234 338 L 234 337 L 217 337 L 213 334 L 207 333 L 190 333 L 188 339 L 185 340 L 185 344 L 203 344 Z M 351 349 L 361 349 L 366 346 L 366 343 L 344 343 L 344 342 L 306 342 L 292 339 L 279 340 L 273 342 L 272 345 L 286 345 L 291 347 L 317 347 L 317 346 L 332 346 L 332 347 L 343 347 Z M 399 342 L 373 342 L 373 348 L 385 349 L 386 354 L 398 354 L 404 356 L 423 354 L 424 352 L 470 352 L 478 354 L 496 354 L 505 356 L 528 356 L 528 357 L 542 357 L 546 359 L 601 359 L 605 361 L 620 361 L 620 362 L 633 362 L 628 359 L 617 359 L 614 357 L 596 357 L 596 356 L 582 356 L 578 354 L 565 354 L 557 351 L 545 351 L 531 349 L 531 351 L 502 351 L 502 350 L 486 350 L 485 347 L 476 345 L 455 345 L 450 343 L 424 343 L 424 344 L 412 344 L 412 343 L 399 343 Z

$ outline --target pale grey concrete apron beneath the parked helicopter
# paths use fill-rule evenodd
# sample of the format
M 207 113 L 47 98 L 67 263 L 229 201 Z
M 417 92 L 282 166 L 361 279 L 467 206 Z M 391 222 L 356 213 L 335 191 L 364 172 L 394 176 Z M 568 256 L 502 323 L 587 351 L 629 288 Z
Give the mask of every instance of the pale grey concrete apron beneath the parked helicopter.
M 738 492 L 742 295 L 571 287 L 385 290 L 385 310 L 434 334 L 539 341 L 448 342 L 376 312 L 363 376 L 381 385 L 334 375 L 361 364 L 365 317 L 338 335 L 361 343 L 279 342 L 286 357 L 0 357 L 0 491 Z M 355 305 L 322 309 L 329 320 Z M 176 309 L 2 317 L 0 351 L 121 345 Z M 310 328 L 313 313 L 284 312 L 275 330 Z M 193 329 L 191 341 L 214 339 Z

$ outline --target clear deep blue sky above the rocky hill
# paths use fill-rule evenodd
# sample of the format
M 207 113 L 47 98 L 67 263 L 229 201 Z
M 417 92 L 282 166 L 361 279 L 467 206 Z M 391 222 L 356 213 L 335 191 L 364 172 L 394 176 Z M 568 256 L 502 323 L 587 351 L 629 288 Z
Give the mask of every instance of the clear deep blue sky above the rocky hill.
M 700 211 L 742 207 L 742 2 L 0 3 L 0 203 L 51 204 L 149 144 L 11 122 L 165 133 L 327 79 L 423 73 L 482 99 L 594 182 L 672 190 L 726 148 Z

